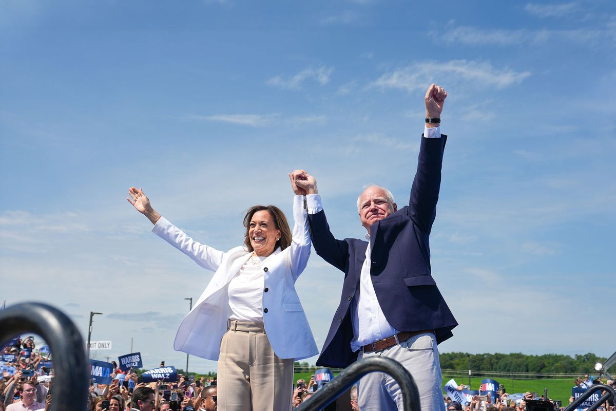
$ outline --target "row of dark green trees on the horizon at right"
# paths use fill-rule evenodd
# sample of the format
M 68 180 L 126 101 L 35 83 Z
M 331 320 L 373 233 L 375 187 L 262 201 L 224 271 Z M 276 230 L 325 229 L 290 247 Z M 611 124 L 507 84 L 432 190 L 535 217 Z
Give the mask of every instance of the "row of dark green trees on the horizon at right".
M 563 373 L 592 374 L 594 364 L 606 361 L 606 357 L 598 357 L 592 353 L 575 354 L 543 354 L 530 356 L 521 352 L 511 354 L 468 354 L 467 352 L 440 353 L 440 367 L 449 370 L 468 370 L 469 355 L 471 370 L 492 372 L 527 372 L 527 373 Z

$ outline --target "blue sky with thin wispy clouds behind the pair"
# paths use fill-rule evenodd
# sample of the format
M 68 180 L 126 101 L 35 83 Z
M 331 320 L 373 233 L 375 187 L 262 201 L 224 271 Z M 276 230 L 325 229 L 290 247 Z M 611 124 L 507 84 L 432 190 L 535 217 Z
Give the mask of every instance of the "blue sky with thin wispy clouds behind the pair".
M 448 98 L 432 274 L 460 326 L 440 351 L 610 356 L 616 200 L 611 1 L 0 1 L 0 299 L 45 301 L 145 367 L 211 273 L 124 200 L 221 250 L 286 173 L 334 235 L 362 186 L 408 201 L 430 83 Z M 612 56 L 612 57 L 610 57 Z M 297 287 L 317 345 L 342 274 Z M 530 336 L 528 336 L 530 335 Z M 315 359 L 309 359 L 314 362 Z M 214 370 L 192 359 L 190 368 Z

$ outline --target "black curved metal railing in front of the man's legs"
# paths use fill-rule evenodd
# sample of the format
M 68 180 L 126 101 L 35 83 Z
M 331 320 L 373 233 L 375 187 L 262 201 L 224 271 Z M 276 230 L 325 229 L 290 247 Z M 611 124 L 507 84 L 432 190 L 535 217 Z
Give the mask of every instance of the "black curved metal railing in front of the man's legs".
M 418 411 L 421 409 L 417 386 L 408 370 L 392 359 L 373 357 L 349 365 L 330 383 L 319 389 L 306 402 L 300 404 L 296 411 L 317 411 L 324 408 L 325 405 L 330 404 L 336 397 L 349 389 L 355 381 L 367 373 L 375 371 L 389 374 L 400 385 L 404 411 Z

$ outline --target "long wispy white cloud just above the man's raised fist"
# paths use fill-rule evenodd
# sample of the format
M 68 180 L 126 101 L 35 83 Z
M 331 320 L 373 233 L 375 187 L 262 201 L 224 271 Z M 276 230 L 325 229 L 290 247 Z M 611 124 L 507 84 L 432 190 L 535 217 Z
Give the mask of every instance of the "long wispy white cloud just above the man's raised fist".
M 371 86 L 415 91 L 424 89 L 426 83 L 437 78 L 453 81 L 470 81 L 497 89 L 519 84 L 530 76 L 530 71 L 514 71 L 509 68 L 497 69 L 489 62 L 450 60 L 448 62 L 419 62 L 385 73 Z

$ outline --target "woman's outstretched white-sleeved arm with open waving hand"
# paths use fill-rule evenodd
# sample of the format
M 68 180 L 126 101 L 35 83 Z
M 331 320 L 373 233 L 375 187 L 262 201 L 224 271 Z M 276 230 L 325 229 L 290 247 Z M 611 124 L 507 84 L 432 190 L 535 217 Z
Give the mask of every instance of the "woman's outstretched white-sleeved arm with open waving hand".
M 135 187 L 128 189 L 129 196 L 126 198 L 139 213 L 144 214 L 154 224 L 152 231 L 158 237 L 182 251 L 201 267 L 216 271 L 221 265 L 224 253 L 208 245 L 196 242 L 188 237 L 182 230 L 171 224 L 167 219 L 156 212 L 150 205 L 150 199 L 144 194 L 144 190 Z

